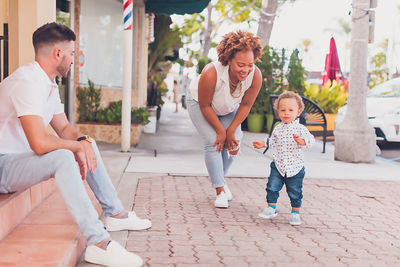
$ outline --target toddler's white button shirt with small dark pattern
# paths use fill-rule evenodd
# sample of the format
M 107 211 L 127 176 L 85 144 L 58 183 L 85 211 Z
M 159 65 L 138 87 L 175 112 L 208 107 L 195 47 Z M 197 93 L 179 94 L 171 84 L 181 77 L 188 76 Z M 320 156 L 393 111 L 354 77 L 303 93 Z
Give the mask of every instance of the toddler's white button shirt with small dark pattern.
M 306 145 L 297 144 L 293 138 L 294 134 L 303 138 Z M 291 123 L 278 124 L 269 138 L 269 147 L 272 148 L 272 156 L 279 173 L 286 177 L 293 177 L 299 173 L 304 166 L 303 149 L 311 147 L 314 143 L 314 136 L 298 119 Z

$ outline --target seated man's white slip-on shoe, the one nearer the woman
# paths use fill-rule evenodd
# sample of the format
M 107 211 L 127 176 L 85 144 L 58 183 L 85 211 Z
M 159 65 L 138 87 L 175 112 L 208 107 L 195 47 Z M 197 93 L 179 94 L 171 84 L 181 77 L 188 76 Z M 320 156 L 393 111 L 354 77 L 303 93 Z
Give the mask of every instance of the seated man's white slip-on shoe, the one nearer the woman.
M 107 217 L 104 224 L 107 231 L 121 231 L 121 230 L 144 230 L 151 227 L 151 222 L 147 219 L 140 219 L 133 211 L 128 212 L 128 218 L 117 219 Z

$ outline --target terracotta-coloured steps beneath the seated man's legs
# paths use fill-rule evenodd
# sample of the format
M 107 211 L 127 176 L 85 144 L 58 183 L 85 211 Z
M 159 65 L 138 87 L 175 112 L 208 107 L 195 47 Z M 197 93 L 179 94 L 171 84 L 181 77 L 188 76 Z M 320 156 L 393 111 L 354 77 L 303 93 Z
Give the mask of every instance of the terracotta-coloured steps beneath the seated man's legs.
M 85 186 L 100 214 L 100 204 L 86 183 Z M 26 210 L 27 203 L 15 201 L 13 211 Z M 11 217 L 15 214 L 8 212 Z M 7 217 L 5 212 L 3 217 Z M 86 246 L 86 239 L 57 189 L 11 229 L 0 242 L 0 266 L 75 266 Z

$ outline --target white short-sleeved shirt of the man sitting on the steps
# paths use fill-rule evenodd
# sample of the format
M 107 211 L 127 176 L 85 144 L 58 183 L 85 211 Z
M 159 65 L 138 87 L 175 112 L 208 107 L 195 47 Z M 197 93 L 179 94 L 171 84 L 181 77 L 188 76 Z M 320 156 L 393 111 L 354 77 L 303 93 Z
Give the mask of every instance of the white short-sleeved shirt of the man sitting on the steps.
M 63 113 L 58 86 L 32 62 L 18 68 L 0 83 L 0 154 L 31 152 L 19 117 L 38 115 L 47 127 Z

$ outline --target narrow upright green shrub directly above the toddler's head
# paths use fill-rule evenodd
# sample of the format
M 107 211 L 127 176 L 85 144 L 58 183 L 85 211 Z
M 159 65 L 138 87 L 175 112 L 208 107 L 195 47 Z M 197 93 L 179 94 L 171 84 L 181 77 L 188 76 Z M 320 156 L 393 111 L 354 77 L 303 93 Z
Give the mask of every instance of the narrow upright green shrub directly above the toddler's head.
M 307 72 L 304 69 L 303 65 L 301 65 L 301 59 L 299 58 L 299 50 L 295 49 L 290 55 L 288 72 L 286 74 L 289 91 L 293 91 L 295 93 L 303 95 L 306 89 L 306 75 Z

